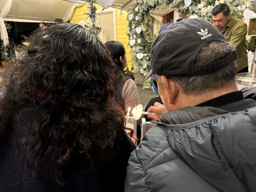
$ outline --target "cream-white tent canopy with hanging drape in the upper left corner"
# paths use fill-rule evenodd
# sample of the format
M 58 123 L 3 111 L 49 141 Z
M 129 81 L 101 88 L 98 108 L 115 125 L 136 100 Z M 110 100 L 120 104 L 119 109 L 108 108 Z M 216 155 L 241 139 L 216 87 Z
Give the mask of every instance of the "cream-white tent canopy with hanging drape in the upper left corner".
M 16 22 L 54 22 L 63 19 L 67 22 L 74 8 L 82 4 L 62 0 L 1 0 L 0 30 L 4 45 L 8 44 L 8 35 L 4 21 Z

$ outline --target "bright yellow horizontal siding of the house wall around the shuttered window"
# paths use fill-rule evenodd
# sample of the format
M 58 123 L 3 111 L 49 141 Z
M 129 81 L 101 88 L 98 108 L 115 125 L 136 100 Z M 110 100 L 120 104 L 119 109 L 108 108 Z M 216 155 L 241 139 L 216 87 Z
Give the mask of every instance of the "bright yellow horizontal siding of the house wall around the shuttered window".
M 97 9 L 101 9 L 102 7 L 96 4 Z M 78 24 L 81 20 L 84 20 L 87 22 L 87 15 L 84 15 L 84 13 L 87 13 L 88 11 L 88 4 L 84 4 L 83 6 L 77 7 L 74 10 L 74 13 L 70 19 L 70 23 Z M 123 14 L 120 15 L 120 10 L 116 9 L 116 40 L 121 42 L 126 50 L 126 58 L 127 62 L 131 63 L 131 47 L 128 45 L 129 42 L 129 36 L 127 35 L 127 27 L 128 27 L 128 20 L 127 20 L 127 13 L 125 11 L 122 12 Z M 97 17 L 97 15 L 96 15 Z

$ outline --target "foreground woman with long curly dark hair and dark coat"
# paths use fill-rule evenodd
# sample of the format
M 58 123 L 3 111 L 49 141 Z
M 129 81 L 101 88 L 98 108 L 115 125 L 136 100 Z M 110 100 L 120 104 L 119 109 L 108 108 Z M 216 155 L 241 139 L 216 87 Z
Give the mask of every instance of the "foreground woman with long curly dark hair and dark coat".
M 0 191 L 123 191 L 135 146 L 102 42 L 80 25 L 40 28 L 14 63 L 0 99 Z

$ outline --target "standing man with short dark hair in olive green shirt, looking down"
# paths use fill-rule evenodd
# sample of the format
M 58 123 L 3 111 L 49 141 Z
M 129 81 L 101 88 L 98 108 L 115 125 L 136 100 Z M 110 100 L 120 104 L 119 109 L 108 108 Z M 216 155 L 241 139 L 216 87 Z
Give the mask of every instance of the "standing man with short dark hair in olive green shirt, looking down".
M 246 34 L 247 25 L 241 19 L 231 16 L 229 6 L 224 3 L 212 9 L 212 21 L 215 27 L 237 49 L 237 71 L 248 72 Z

